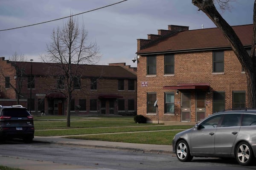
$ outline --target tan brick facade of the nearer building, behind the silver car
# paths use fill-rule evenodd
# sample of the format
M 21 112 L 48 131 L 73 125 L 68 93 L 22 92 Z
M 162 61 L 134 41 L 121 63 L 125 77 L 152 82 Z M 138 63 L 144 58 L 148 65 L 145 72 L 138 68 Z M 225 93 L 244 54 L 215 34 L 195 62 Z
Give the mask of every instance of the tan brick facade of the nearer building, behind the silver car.
M 209 31 L 212 30 L 209 29 Z M 189 36 L 191 31 L 182 31 L 183 34 L 185 32 Z M 250 31 L 248 32 L 250 34 Z M 195 33 L 191 32 L 191 34 Z M 203 110 L 204 117 L 206 117 L 213 113 L 214 92 L 224 92 L 224 108 L 232 109 L 233 92 L 242 91 L 245 93 L 245 106 L 247 107 L 246 75 L 242 71 L 241 64 L 230 47 L 219 48 L 219 46 L 211 46 L 205 49 L 192 49 L 192 43 L 190 46 L 186 44 L 189 42 L 183 43 L 191 50 L 188 50 L 189 48 L 175 49 L 172 45 L 163 47 L 161 45 L 162 42 L 166 43 L 165 45 L 171 44 L 172 35 L 169 34 L 169 37 L 167 36 L 167 38 L 163 38 L 155 43 L 148 43 L 148 45 L 141 45 L 140 42 L 142 40 L 138 40 L 137 54 L 140 55 L 137 59 L 138 115 L 145 116 L 148 122 L 197 122 L 197 112 L 200 112 L 200 109 L 198 110 L 200 107 L 197 107 L 197 104 L 201 101 L 197 101 L 196 95 L 203 94 L 204 96 L 204 107 L 201 107 L 201 110 Z M 198 33 L 197 37 L 200 39 L 199 36 L 204 35 L 207 35 L 207 33 Z M 178 39 L 177 36 L 179 34 L 175 34 L 175 36 Z M 204 42 L 201 43 L 204 44 Z M 177 45 L 178 47 L 179 45 Z M 250 47 L 250 45 L 246 47 Z M 166 51 L 164 48 L 172 49 L 172 51 Z M 224 51 L 224 71 L 219 73 L 213 71 L 214 51 Z M 165 74 L 165 54 L 174 54 L 175 66 L 173 74 Z M 147 57 L 152 55 L 156 56 L 156 74 L 148 75 Z M 147 86 L 142 85 L 145 82 Z M 174 94 L 174 113 L 165 113 L 165 93 L 167 92 Z M 156 94 L 159 115 L 157 115 L 157 110 L 155 113 L 148 113 L 148 93 Z M 182 118 L 183 112 L 185 113 L 184 108 L 182 108 L 184 102 L 183 97 L 185 98 L 183 95 L 190 96 L 188 101 L 190 102 L 189 108 L 186 108 L 189 112 L 188 119 Z

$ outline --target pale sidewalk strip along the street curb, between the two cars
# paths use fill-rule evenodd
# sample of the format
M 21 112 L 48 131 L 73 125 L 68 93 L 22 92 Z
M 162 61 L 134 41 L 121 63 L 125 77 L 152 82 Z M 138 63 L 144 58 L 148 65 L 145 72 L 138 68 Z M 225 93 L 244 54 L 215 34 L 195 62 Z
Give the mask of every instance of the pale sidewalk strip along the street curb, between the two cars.
M 93 141 L 81 139 L 67 139 L 56 136 L 35 136 L 34 142 L 48 142 L 52 144 L 91 147 L 99 149 L 116 149 L 116 150 L 131 150 L 134 152 L 151 152 L 151 153 L 173 153 L 172 145 L 162 144 L 135 144 L 125 142 L 108 142 L 108 141 Z

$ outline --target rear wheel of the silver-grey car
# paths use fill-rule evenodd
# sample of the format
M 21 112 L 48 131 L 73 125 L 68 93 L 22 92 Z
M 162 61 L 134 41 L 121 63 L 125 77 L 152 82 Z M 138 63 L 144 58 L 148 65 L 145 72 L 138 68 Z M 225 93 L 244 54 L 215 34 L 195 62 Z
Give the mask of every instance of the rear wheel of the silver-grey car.
M 253 150 L 247 142 L 241 142 L 236 148 L 236 160 L 241 165 L 249 165 L 253 159 Z

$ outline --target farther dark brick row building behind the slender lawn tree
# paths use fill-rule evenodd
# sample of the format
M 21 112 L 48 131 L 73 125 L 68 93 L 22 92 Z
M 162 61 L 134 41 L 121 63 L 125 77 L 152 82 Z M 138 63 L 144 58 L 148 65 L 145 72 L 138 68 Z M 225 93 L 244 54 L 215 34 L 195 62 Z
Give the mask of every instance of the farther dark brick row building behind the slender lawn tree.
M 58 64 L 11 62 L 1 57 L 0 71 L 0 105 L 15 105 L 18 99 L 35 115 L 41 111 L 66 114 L 65 77 Z M 72 87 L 71 114 L 136 114 L 136 72 L 125 63 L 79 65 Z

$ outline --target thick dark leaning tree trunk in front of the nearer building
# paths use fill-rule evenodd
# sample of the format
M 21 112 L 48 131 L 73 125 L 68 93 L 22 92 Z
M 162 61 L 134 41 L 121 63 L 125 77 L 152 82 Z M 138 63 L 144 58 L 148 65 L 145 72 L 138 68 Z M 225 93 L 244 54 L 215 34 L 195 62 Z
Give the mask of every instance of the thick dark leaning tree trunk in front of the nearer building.
M 254 0 L 253 8 L 253 37 L 250 55 L 247 54 L 236 32 L 215 8 L 214 3 L 218 3 L 220 8 L 224 10 L 229 6 L 230 1 L 232 0 L 192 0 L 192 3 L 212 20 L 230 43 L 247 77 L 248 107 L 256 108 L 256 0 Z

